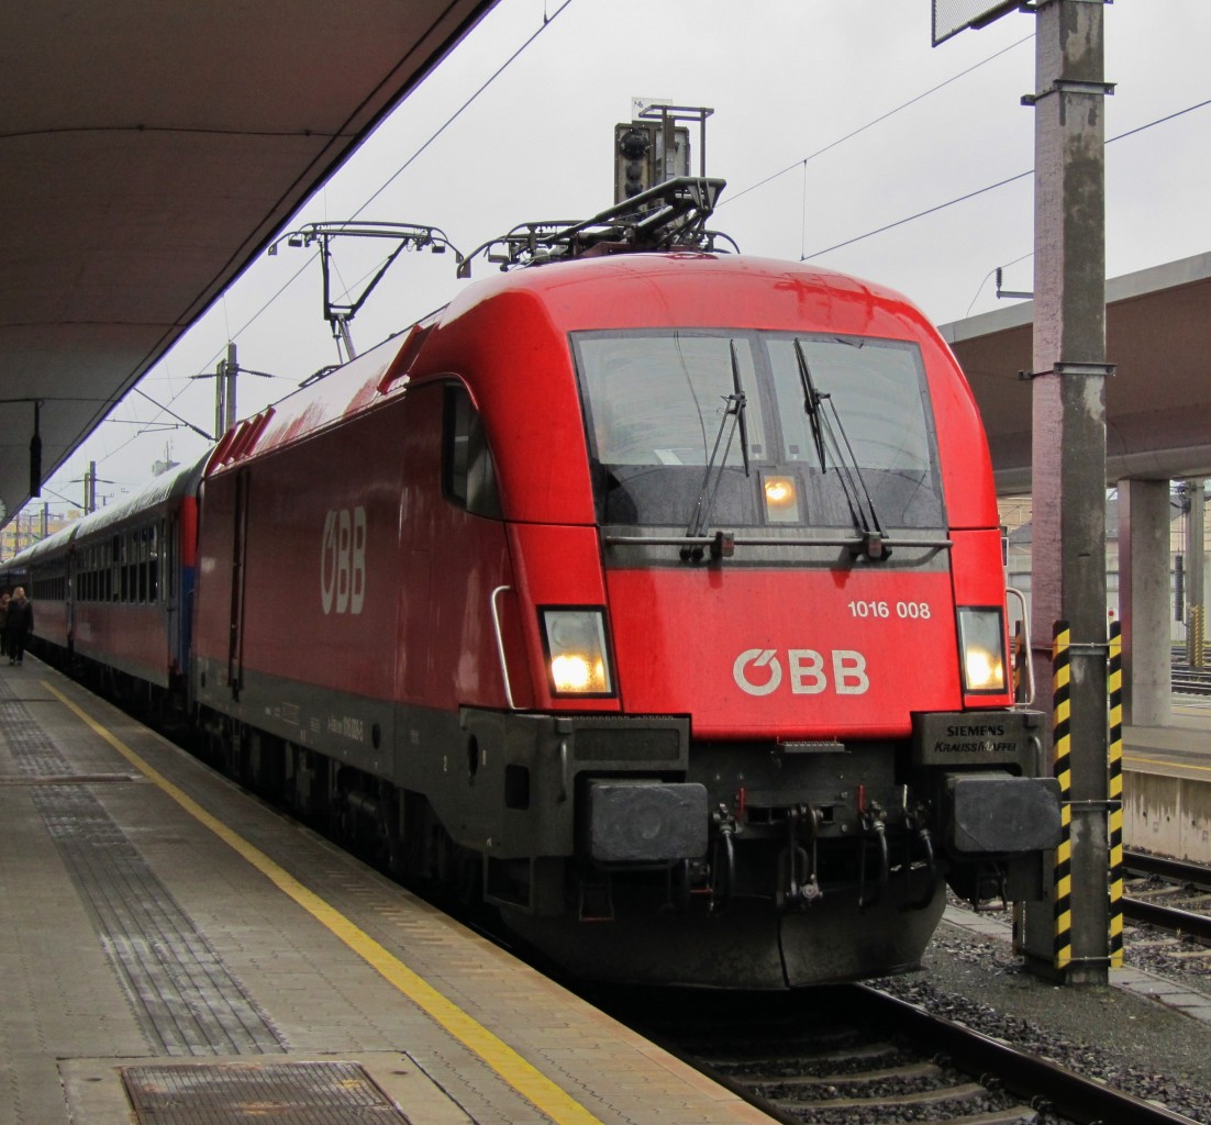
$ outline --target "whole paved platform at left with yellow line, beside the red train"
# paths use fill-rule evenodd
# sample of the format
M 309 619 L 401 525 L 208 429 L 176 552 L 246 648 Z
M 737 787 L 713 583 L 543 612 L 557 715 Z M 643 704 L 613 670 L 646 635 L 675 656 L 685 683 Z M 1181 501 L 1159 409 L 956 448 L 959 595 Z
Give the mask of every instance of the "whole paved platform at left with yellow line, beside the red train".
M 0 974 L 8 1125 L 768 1120 L 33 658 Z

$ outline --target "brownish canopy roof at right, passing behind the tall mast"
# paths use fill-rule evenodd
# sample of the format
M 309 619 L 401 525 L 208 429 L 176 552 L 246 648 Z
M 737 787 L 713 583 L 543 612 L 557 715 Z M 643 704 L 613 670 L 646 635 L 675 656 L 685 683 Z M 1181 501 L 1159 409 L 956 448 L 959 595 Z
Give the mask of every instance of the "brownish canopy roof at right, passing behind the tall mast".
M 997 490 L 1031 489 L 1034 303 L 942 326 L 975 391 Z M 1211 253 L 1106 283 L 1107 483 L 1211 477 Z M 1066 378 L 1080 378 L 1068 375 Z

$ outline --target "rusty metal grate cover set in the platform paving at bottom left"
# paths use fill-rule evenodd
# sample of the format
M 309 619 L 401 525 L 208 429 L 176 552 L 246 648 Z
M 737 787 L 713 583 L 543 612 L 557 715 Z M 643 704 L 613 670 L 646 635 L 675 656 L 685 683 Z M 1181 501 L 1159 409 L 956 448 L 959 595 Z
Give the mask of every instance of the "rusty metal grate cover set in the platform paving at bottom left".
M 408 1125 L 352 1062 L 122 1067 L 139 1125 Z

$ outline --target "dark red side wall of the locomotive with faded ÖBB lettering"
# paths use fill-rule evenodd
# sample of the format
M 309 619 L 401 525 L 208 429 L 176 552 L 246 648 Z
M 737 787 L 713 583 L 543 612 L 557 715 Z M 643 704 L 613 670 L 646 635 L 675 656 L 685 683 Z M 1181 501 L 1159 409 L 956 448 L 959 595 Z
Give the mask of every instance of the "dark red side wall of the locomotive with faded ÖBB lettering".
M 446 710 L 500 705 L 488 607 L 509 582 L 505 530 L 442 498 L 442 397 L 434 384 L 355 406 L 348 432 L 271 441 L 212 472 L 195 650 L 224 685 L 260 672 Z

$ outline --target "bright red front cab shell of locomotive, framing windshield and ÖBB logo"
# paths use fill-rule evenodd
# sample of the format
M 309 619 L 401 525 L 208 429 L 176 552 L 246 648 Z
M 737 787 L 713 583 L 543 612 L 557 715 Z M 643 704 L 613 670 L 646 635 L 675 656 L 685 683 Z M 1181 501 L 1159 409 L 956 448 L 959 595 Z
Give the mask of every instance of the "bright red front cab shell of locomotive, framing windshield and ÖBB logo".
M 599 543 L 579 530 L 597 520 L 567 340 L 582 331 L 670 327 L 828 332 L 918 346 L 932 397 L 948 526 L 983 536 L 978 570 L 988 580 L 965 572 L 952 578 L 862 569 L 848 559 L 811 573 L 785 566 L 754 573 L 730 563 L 712 572 L 609 566 L 607 597 Z M 608 603 L 624 711 L 687 713 L 695 734 L 706 737 L 903 736 L 911 712 L 963 705 L 955 592 L 975 597 L 976 604 L 999 604 L 1004 597 L 991 464 L 962 373 L 902 298 L 804 266 L 696 254 L 544 268 L 486 282 L 450 305 L 413 378 L 448 371 L 466 379 L 484 418 L 505 516 L 515 527 L 523 601 L 532 607 Z M 878 616 L 883 607 L 890 616 Z M 533 660 L 540 650 L 530 632 Z M 822 678 L 804 678 L 802 661 L 811 658 L 800 656 L 797 684 L 787 675 L 781 690 L 754 696 L 733 675 L 734 661 L 751 648 L 816 652 L 830 664 L 834 653 L 857 653 L 869 685 L 860 694 L 838 694 L 836 685 L 815 691 Z M 446 659 L 454 655 L 450 650 Z M 533 662 L 530 675 L 544 682 Z M 976 702 L 1005 706 L 1010 699 Z M 550 695 L 540 705 L 618 706 Z

